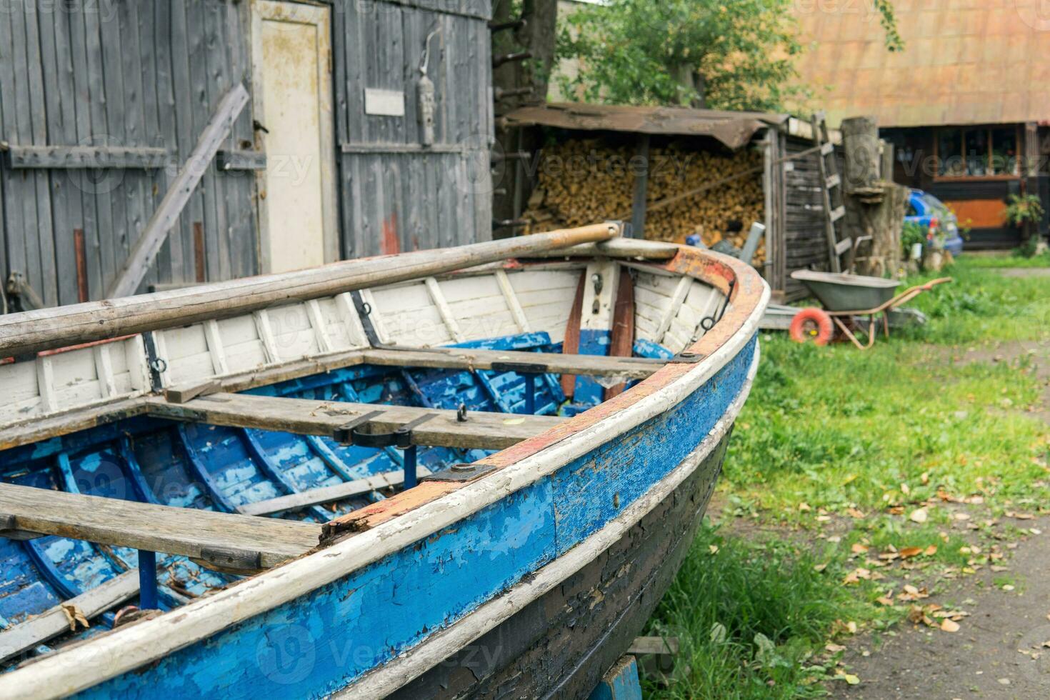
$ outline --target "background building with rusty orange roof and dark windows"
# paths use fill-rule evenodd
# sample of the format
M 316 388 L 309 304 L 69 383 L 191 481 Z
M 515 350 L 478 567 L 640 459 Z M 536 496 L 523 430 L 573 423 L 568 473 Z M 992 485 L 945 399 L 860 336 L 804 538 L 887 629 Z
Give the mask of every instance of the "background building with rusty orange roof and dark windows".
M 895 0 L 900 52 L 886 50 L 870 4 L 795 3 L 808 45 L 803 79 L 833 123 L 878 119 L 897 149 L 895 179 L 951 206 L 971 229 L 971 248 L 1016 246 L 1009 195 L 1050 200 L 1050 4 Z

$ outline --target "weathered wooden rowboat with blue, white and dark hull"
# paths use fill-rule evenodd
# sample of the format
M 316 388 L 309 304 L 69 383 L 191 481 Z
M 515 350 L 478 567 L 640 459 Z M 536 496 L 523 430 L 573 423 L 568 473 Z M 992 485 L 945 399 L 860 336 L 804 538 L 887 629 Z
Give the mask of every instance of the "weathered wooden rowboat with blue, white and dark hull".
M 0 318 L 0 696 L 586 697 L 769 298 L 618 232 Z

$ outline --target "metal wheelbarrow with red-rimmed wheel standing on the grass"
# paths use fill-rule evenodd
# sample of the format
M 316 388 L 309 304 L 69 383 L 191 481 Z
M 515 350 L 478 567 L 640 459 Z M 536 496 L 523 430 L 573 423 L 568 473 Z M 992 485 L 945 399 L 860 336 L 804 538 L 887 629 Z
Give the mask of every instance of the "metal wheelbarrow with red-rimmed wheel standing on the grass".
M 802 282 L 824 306 L 802 309 L 795 315 L 789 328 L 792 340 L 826 345 L 835 337 L 835 331 L 838 328 L 841 335 L 860 349 L 867 349 L 875 344 L 878 335 L 875 326 L 880 319 L 883 333 L 889 337 L 889 312 L 911 301 L 923 292 L 929 292 L 938 284 L 952 281 L 951 277 L 942 277 L 894 296 L 901 283 L 882 277 L 799 270 L 792 273 L 792 279 Z M 866 344 L 858 340 L 852 327 L 854 318 L 858 316 L 867 317 Z

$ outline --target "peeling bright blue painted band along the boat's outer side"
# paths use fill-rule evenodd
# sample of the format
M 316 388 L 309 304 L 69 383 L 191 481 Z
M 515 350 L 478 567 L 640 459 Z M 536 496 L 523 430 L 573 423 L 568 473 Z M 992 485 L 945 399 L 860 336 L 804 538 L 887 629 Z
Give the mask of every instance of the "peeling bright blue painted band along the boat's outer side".
M 114 678 L 85 698 L 319 698 L 578 546 L 673 469 L 738 394 L 738 357 L 679 406 L 346 578 Z

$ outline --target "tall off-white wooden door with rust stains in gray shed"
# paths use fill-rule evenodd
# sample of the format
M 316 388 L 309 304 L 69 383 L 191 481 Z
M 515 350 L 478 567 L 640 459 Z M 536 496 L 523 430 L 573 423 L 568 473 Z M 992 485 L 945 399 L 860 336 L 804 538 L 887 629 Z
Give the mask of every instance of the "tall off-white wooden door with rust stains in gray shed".
M 255 139 L 267 155 L 258 174 L 264 273 L 338 259 L 331 50 L 329 7 L 252 3 Z

